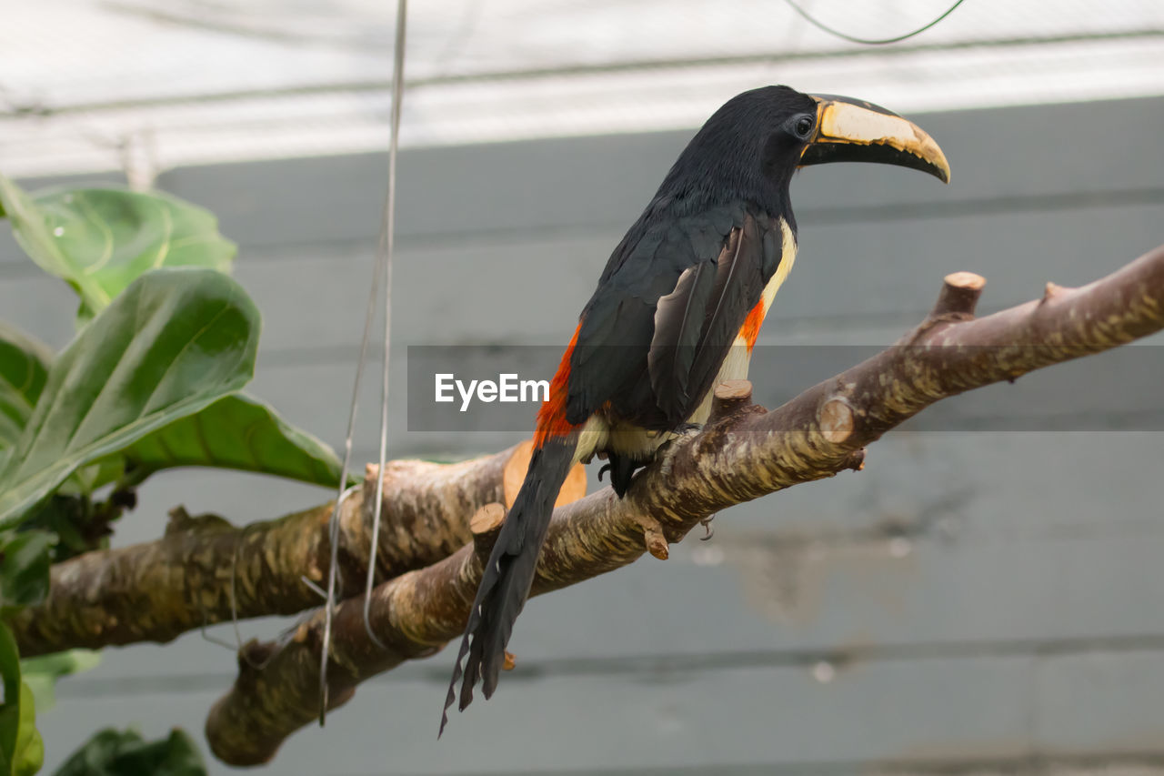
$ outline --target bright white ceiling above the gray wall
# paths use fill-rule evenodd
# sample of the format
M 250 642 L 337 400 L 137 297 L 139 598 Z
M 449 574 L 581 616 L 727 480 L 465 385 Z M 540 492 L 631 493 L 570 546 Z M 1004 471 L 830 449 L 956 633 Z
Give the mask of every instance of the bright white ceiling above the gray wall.
M 865 37 L 952 0 L 801 0 Z M 41 0 L 0 26 L 0 172 L 386 147 L 391 0 Z M 1164 2 L 965 0 L 903 43 L 783 0 L 424 0 L 402 143 L 697 126 L 766 83 L 899 112 L 1164 94 Z

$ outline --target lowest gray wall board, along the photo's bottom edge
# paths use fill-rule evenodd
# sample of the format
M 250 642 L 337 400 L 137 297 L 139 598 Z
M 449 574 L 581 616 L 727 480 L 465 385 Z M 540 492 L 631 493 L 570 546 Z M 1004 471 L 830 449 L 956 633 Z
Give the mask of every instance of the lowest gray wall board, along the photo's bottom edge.
M 696 666 L 636 678 L 506 675 L 492 699 L 454 712 L 439 742 L 442 683 L 389 676 L 362 685 L 326 728 L 299 731 L 271 767 L 288 776 L 654 776 L 701 768 L 752 776 L 747 769 L 761 766 L 772 770 L 755 773 L 920 776 L 958 767 L 986 776 L 1031 773 L 1024 767 L 1042 762 L 1071 776 L 1149 776 L 1164 756 L 1164 692 L 1154 678 L 1162 661 L 1164 652 L 1100 651 L 885 662 L 833 675 L 809 666 Z M 95 728 L 129 725 L 149 738 L 182 726 L 211 774 L 234 773 L 210 757 L 200 738 L 229 676 L 164 696 L 93 697 L 70 690 L 74 682 L 65 680 L 57 707 L 38 720 L 50 773 Z M 1105 769 L 1103 761 L 1115 764 Z

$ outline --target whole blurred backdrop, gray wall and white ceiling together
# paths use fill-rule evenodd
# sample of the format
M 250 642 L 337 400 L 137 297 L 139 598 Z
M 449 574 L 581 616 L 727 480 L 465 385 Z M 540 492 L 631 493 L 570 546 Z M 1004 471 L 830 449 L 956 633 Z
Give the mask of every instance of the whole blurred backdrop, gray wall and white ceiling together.
M 802 1 L 863 37 L 949 7 Z M 45 0 L 0 24 L 0 172 L 31 189 L 128 181 L 214 211 L 264 316 L 253 391 L 336 447 L 386 189 L 393 12 Z M 392 457 L 521 438 L 410 430 L 405 346 L 565 344 L 694 129 L 754 86 L 908 114 L 953 169 L 947 188 L 881 167 L 801 175 L 800 258 L 761 345 L 886 345 L 946 273 L 985 275 L 989 311 L 1164 241 L 1154 0 L 966 0 L 888 47 L 838 40 L 780 0 L 427 0 L 410 14 Z M 59 347 L 73 309 L 0 226 L 0 317 Z M 1143 368 L 1164 364 L 1161 341 L 1140 346 Z M 361 686 L 268 769 L 1164 774 L 1164 438 L 1145 431 L 1164 409 L 1151 389 L 1072 393 L 1119 369 L 1137 362 L 1102 355 L 952 400 L 934 411 L 957 423 L 894 432 L 861 473 L 736 507 L 666 563 L 531 601 L 519 669 L 440 743 L 450 654 Z M 822 376 L 753 375 L 768 407 Z M 375 458 L 377 395 L 363 391 L 357 460 Z M 1015 395 L 1045 405 L 1022 431 L 996 409 Z M 156 538 L 178 503 L 246 523 L 331 494 L 183 471 L 140 498 L 115 543 Z M 106 650 L 38 719 L 45 773 L 107 725 L 198 736 L 234 675 L 230 650 L 198 633 Z

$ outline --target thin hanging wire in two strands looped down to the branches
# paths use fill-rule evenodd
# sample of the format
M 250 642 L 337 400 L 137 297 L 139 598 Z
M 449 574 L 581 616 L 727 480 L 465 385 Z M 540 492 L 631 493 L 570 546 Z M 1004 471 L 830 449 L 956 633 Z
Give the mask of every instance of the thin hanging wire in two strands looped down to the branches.
M 371 587 L 376 574 L 377 544 L 379 542 L 379 521 L 384 495 L 384 465 L 388 458 L 388 375 L 389 357 L 392 334 L 392 244 L 396 232 L 396 157 L 399 146 L 398 135 L 400 132 L 400 98 L 404 91 L 404 42 L 405 21 L 407 15 L 407 0 L 398 0 L 396 6 L 396 48 L 392 52 L 392 106 L 391 128 L 388 147 L 388 197 L 384 202 L 383 218 L 381 219 L 379 242 L 376 261 L 372 267 L 371 289 L 368 295 L 368 306 L 364 313 L 363 338 L 360 343 L 360 360 L 356 364 L 355 386 L 352 389 L 352 409 L 348 412 L 347 437 L 343 443 L 343 466 L 340 471 L 340 494 L 335 500 L 335 509 L 332 512 L 329 524 L 331 538 L 331 565 L 327 574 L 327 602 L 324 613 L 324 643 L 319 657 L 319 725 L 324 726 L 327 719 L 327 663 L 331 657 L 332 647 L 332 618 L 335 612 L 336 586 L 339 579 L 339 548 L 340 548 L 340 510 L 345 499 L 352 493 L 352 488 L 345 489 L 348 479 L 348 471 L 352 466 L 352 442 L 355 436 L 357 397 L 360 395 L 360 383 L 363 379 L 363 367 L 368 357 L 368 341 L 371 334 L 372 320 L 375 319 L 376 301 L 379 287 L 383 281 L 384 287 L 384 369 L 381 382 L 381 412 L 379 412 L 379 470 L 376 478 L 376 502 L 372 513 L 371 550 L 368 558 L 368 585 L 364 595 L 364 629 L 374 642 L 383 648 L 383 643 L 371 633 L 368 622 L 369 606 L 371 601 Z

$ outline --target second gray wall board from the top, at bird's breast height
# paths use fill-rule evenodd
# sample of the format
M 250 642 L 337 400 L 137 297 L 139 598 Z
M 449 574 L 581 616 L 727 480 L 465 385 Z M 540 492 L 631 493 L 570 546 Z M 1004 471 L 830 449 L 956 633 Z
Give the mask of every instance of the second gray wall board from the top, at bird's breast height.
M 1081 207 L 851 225 L 802 224 L 796 267 L 762 340 L 782 332 L 885 327 L 896 338 L 934 304 L 942 277 L 972 270 L 988 283 L 988 312 L 1081 285 L 1162 239 L 1161 204 Z M 565 346 L 620 233 L 403 248 L 395 264 L 393 340 L 409 345 L 545 343 Z M 0 248 L 0 254 L 3 251 Z M 235 276 L 264 317 L 261 350 L 326 350 L 354 360 L 371 248 L 294 246 L 248 253 Z M 54 344 L 72 331 L 69 288 L 28 260 L 0 271 L 0 315 Z M 889 339 L 888 341 L 892 341 Z

